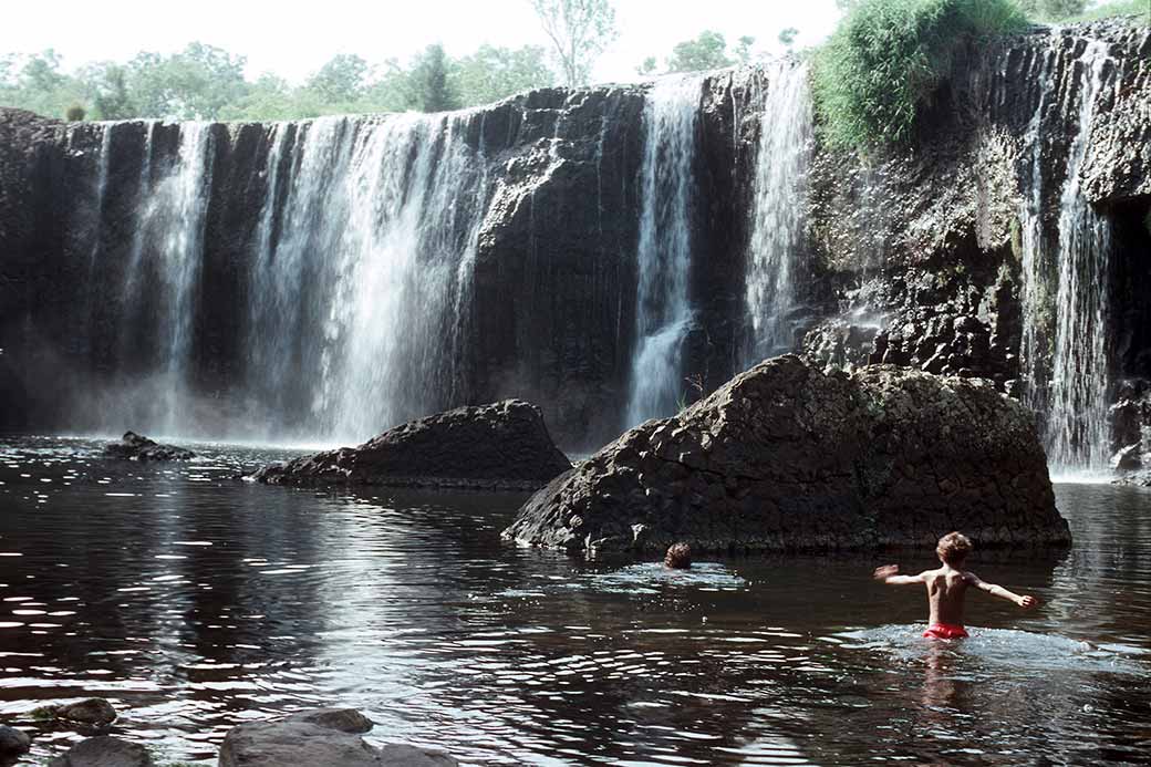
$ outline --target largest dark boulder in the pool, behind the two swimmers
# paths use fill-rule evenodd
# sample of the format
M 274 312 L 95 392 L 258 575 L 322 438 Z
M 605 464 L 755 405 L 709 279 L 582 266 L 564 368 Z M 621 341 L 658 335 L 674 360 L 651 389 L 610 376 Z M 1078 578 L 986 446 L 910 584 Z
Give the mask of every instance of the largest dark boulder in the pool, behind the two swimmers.
M 538 492 L 504 537 L 593 554 L 1066 544 L 1035 417 L 978 379 L 763 362 Z

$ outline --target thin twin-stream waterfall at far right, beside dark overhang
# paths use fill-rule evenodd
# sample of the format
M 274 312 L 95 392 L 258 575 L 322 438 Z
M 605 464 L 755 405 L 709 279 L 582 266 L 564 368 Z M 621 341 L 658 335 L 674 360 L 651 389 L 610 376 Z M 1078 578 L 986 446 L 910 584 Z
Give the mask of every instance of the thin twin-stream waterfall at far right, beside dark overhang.
M 1053 52 L 1049 53 L 1045 76 L 1050 76 L 1054 58 Z M 1039 219 L 1043 199 L 1039 152 L 1043 119 L 1049 107 L 1046 93 L 1055 94 L 1058 89 L 1051 85 L 1044 89 L 1029 130 L 1030 193 L 1021 211 L 1023 362 L 1030 387 L 1029 402 L 1043 413 L 1047 456 L 1057 471 L 1100 471 L 1107 468 L 1110 454 L 1106 339 L 1111 228 L 1088 204 L 1081 188 L 1082 166 L 1097 101 L 1105 85 L 1107 61 L 1106 44 L 1089 41 L 1078 60 L 1068 62 L 1075 79 L 1065 108 L 1073 109 L 1066 116 L 1075 126 L 1075 134 L 1067 153 L 1067 177 L 1059 196 L 1055 242 L 1047 241 Z M 1051 259 L 1054 259 L 1053 265 Z M 1051 268 L 1054 274 L 1049 278 Z M 1053 291 L 1051 279 L 1055 281 Z M 1054 333 L 1049 339 L 1045 332 L 1052 324 Z M 1050 344 L 1050 371 L 1041 363 L 1045 342 Z

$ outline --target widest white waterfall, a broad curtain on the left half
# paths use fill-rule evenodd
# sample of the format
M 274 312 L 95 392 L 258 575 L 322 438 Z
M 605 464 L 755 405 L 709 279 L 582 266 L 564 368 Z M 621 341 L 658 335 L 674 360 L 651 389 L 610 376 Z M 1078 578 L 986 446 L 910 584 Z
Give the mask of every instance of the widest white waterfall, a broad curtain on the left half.
M 470 116 L 273 129 L 247 378 L 269 412 L 292 402 L 305 411 L 298 434 L 363 440 L 463 398 L 487 200 L 485 161 L 465 141 Z

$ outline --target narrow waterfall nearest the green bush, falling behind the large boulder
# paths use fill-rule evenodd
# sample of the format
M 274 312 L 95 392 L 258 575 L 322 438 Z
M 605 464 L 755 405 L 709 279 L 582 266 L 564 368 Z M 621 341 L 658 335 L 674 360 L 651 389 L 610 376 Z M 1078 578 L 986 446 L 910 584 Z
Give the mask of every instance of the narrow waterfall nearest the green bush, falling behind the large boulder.
M 811 142 L 808 68 L 778 62 L 768 71 L 755 168 L 747 265 L 746 299 L 752 318 L 747 364 L 792 351 L 795 345 L 792 313 Z

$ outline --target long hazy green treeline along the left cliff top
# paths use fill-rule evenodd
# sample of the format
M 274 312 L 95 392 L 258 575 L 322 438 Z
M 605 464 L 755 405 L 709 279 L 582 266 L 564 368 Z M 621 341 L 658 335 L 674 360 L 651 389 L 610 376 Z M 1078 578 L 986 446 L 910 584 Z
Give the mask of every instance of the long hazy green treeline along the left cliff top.
M 440 112 L 555 83 L 543 48 L 480 46 L 459 59 L 429 45 L 406 64 L 333 56 L 300 85 L 244 77 L 246 61 L 192 43 L 170 55 L 139 53 L 73 73 L 55 51 L 0 58 L 0 105 L 70 120 L 288 120 L 325 114 Z

